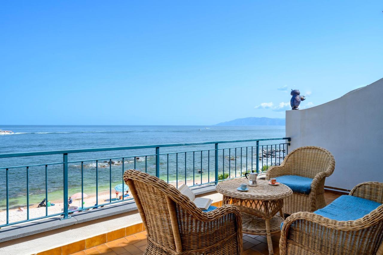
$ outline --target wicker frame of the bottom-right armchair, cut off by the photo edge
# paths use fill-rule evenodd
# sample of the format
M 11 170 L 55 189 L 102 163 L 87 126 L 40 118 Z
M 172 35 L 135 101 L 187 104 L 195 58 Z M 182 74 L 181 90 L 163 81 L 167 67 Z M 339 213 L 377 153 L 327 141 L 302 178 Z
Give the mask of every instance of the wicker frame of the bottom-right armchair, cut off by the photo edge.
M 360 183 L 351 191 L 383 203 L 383 183 Z M 287 217 L 281 231 L 281 255 L 383 254 L 383 204 L 355 221 L 336 221 L 311 212 Z

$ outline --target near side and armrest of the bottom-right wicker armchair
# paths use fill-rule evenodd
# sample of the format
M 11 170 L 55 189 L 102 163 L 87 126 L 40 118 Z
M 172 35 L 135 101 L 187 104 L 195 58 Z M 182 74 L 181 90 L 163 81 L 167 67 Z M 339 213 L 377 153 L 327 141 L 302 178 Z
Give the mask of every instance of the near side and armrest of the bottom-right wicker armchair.
M 382 235 L 382 221 L 383 205 L 355 221 L 336 221 L 312 212 L 296 212 L 287 217 L 283 223 L 279 241 L 280 254 L 286 255 L 288 243 L 296 247 L 300 246 L 300 248 L 305 249 L 305 251 L 310 251 L 315 254 L 335 254 L 336 252 L 326 249 L 333 249 L 338 245 L 342 247 L 342 251 L 345 252 L 342 254 L 350 254 L 347 253 L 346 248 L 350 248 L 350 245 L 354 245 L 354 243 L 357 245 L 355 239 L 362 240 L 358 244 L 360 247 L 364 245 L 365 248 L 367 247 L 367 250 L 377 250 L 381 244 L 378 242 L 372 244 L 369 238 L 376 235 L 378 237 L 374 237 L 376 238 L 375 240 L 381 240 L 379 235 Z M 368 232 L 370 232 L 369 238 L 366 236 Z M 345 239 L 345 235 L 349 237 Z M 303 242 L 303 240 L 305 241 Z M 306 247 L 304 246 L 305 244 Z M 307 244 L 312 245 L 312 247 Z M 368 247 L 368 245 L 375 245 L 375 247 Z M 318 250 L 318 248 L 324 250 Z M 352 250 L 352 248 L 350 248 L 350 250 Z

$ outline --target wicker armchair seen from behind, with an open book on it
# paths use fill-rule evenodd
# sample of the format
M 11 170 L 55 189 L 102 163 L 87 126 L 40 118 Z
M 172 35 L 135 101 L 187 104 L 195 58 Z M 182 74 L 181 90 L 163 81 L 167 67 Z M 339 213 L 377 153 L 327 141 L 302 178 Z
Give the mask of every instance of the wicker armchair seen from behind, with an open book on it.
M 145 255 L 242 254 L 242 219 L 234 205 L 203 212 L 157 177 L 127 170 L 124 181 L 147 231 Z

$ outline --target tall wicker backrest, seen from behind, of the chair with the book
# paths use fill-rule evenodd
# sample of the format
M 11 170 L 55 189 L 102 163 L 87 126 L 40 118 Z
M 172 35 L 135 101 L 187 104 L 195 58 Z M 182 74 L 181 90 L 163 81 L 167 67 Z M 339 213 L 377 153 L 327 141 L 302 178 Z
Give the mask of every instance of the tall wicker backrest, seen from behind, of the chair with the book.
M 124 181 L 136 202 L 148 238 L 156 246 L 182 252 L 176 204 L 196 208 L 187 196 L 157 177 L 137 170 L 126 170 Z

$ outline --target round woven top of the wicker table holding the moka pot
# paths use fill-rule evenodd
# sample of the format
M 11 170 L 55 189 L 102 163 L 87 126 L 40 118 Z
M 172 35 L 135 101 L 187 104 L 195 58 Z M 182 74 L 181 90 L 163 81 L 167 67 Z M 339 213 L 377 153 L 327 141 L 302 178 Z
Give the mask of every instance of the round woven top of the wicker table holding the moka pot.
M 252 200 L 278 200 L 293 194 L 288 186 L 282 183 L 273 186 L 265 180 L 257 180 L 257 186 L 247 186 L 249 191 L 238 191 L 237 188 L 241 183 L 249 183 L 249 181 L 246 178 L 221 181 L 216 186 L 216 191 L 231 198 Z

